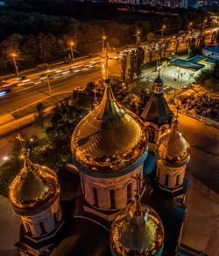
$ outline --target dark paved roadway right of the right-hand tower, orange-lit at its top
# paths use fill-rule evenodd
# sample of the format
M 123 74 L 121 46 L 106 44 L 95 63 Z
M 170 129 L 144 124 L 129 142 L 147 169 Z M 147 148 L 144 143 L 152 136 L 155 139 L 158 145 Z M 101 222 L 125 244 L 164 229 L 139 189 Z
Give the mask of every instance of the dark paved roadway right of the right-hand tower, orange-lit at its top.
M 188 172 L 219 194 L 219 129 L 179 115 L 180 130 L 191 146 Z

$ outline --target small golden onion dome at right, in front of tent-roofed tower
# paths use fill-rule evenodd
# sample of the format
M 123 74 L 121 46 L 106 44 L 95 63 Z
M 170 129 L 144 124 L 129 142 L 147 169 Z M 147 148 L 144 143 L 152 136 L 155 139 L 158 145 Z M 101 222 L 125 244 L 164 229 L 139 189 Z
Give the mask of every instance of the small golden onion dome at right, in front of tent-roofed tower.
M 178 129 L 178 121 L 166 131 L 157 143 L 159 162 L 166 165 L 186 165 L 190 159 L 190 146 Z

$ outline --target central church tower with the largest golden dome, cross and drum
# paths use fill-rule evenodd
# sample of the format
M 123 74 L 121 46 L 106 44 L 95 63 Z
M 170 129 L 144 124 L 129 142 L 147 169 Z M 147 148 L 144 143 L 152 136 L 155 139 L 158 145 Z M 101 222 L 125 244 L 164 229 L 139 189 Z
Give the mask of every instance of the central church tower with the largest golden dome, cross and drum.
M 109 229 L 109 222 L 127 207 L 135 191 L 145 192 L 143 165 L 148 150 L 144 123 L 113 95 L 107 53 L 102 78 L 100 105 L 80 121 L 72 136 L 73 162 L 81 177 L 74 216 Z

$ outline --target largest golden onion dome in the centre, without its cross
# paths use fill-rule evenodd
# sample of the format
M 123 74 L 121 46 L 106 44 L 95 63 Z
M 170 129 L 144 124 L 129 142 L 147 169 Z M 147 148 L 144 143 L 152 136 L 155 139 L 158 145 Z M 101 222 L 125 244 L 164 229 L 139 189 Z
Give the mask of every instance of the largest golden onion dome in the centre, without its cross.
M 102 102 L 74 129 L 71 149 L 76 160 L 95 172 L 117 172 L 141 157 L 147 147 L 145 125 L 117 103 L 109 84 Z

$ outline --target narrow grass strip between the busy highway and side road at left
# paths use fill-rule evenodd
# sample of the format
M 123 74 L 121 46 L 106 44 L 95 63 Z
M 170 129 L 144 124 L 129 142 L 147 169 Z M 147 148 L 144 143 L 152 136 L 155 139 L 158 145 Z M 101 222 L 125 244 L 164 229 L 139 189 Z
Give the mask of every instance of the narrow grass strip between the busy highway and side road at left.
M 50 98 L 44 99 L 40 102 L 43 104 L 44 108 L 46 108 L 48 106 L 55 105 L 61 99 L 64 99 L 64 98 L 66 98 L 67 96 L 70 96 L 70 95 L 71 95 L 71 93 L 61 93 L 61 94 L 54 95 Z M 25 115 L 35 113 L 35 112 L 37 112 L 37 105 L 38 105 L 38 103 L 32 104 L 31 106 L 27 106 L 24 109 L 21 109 L 19 111 L 16 111 L 16 112 L 12 113 L 11 115 L 15 119 L 18 119 L 18 118 L 24 117 Z

